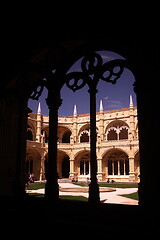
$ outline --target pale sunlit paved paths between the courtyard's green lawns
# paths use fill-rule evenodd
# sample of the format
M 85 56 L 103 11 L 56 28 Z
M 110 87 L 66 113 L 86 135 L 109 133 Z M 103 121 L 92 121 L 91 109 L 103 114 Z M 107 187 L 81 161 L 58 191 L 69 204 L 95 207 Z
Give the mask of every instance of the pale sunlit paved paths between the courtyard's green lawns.
M 61 183 L 59 182 L 61 188 L 81 188 L 79 185 L 74 185 L 72 183 Z M 138 201 L 119 195 L 130 194 L 137 192 L 137 188 L 116 188 L 116 191 L 113 192 L 100 192 L 100 201 L 103 203 L 115 203 L 115 204 L 127 204 L 127 205 L 138 205 Z M 38 190 L 27 190 L 28 193 L 42 193 L 44 194 L 44 188 Z M 72 195 L 72 196 L 84 196 L 88 198 L 88 193 L 86 192 L 64 192 L 59 191 L 59 195 Z

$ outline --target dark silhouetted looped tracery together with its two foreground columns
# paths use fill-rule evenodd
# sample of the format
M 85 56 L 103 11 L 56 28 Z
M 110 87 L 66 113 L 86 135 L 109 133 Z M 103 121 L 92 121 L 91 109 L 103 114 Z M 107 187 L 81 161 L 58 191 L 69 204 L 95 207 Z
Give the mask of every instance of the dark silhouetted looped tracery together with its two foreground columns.
M 99 202 L 99 187 L 97 183 L 97 129 L 96 129 L 96 93 L 99 80 L 115 84 L 123 73 L 127 62 L 123 59 L 111 60 L 103 63 L 100 54 L 94 51 L 88 51 L 81 60 L 80 72 L 69 72 L 63 67 L 57 68 L 54 71 L 49 71 L 41 81 L 40 85 L 34 89 L 30 97 L 38 99 L 41 95 L 44 86 L 48 89 L 48 97 L 46 103 L 49 108 L 49 142 L 48 142 L 48 173 L 46 184 L 46 196 L 58 198 L 58 183 L 57 183 L 57 127 L 58 127 L 58 108 L 62 104 L 60 91 L 66 83 L 67 87 L 72 91 L 77 91 L 83 88 L 86 84 L 89 87 L 90 94 L 90 173 L 91 183 L 89 187 L 89 200 L 91 202 Z M 72 65 L 72 64 L 71 64 Z M 69 66 L 69 65 L 68 65 Z M 71 68 L 71 66 L 70 66 Z M 57 82 L 60 79 L 60 82 Z M 54 103 L 54 105 L 53 105 Z M 113 130 L 113 129 L 112 129 Z M 111 131 L 111 129 L 110 129 Z M 116 129 L 116 132 L 120 130 Z M 122 129 L 121 129 L 122 131 Z M 82 132 L 80 138 L 88 133 Z M 88 135 L 88 137 L 89 137 Z M 118 134 L 119 135 L 119 134 Z M 73 137 L 71 137 L 73 139 Z M 100 140 L 100 135 L 98 135 Z M 75 141 L 75 140 L 72 140 Z M 54 172 L 54 174 L 53 174 Z M 51 193 L 50 188 L 54 186 L 54 192 Z

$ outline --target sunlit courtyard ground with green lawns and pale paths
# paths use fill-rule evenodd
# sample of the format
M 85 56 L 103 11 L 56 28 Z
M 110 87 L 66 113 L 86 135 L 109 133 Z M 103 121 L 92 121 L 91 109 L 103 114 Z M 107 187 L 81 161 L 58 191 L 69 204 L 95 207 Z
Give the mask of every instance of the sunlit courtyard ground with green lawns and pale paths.
M 58 183 L 60 199 L 77 199 L 82 201 L 88 200 L 86 183 L 74 184 L 68 181 L 63 182 L 62 180 L 59 180 Z M 137 197 L 134 197 L 137 195 L 138 191 L 138 187 L 136 185 L 137 184 L 116 183 L 107 184 L 107 187 L 102 187 L 102 184 L 100 184 L 100 201 L 102 203 L 138 205 Z M 106 184 L 104 184 L 104 186 L 106 186 Z M 44 187 L 44 183 L 30 184 L 26 192 L 29 194 L 34 194 L 35 196 L 44 196 Z

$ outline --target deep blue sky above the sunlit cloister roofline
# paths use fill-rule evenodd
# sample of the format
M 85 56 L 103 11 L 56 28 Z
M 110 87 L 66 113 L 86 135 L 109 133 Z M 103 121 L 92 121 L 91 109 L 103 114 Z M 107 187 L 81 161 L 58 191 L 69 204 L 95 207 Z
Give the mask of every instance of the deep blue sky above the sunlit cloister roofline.
M 112 52 L 100 52 L 103 61 L 111 59 L 122 59 L 118 54 Z M 79 62 L 75 63 L 71 71 L 80 71 Z M 103 101 L 104 110 L 112 110 L 125 108 L 129 106 L 129 96 L 132 95 L 134 106 L 136 103 L 136 95 L 133 91 L 133 83 L 135 81 L 134 75 L 128 69 L 125 69 L 121 77 L 117 80 L 116 84 L 104 82 L 100 79 L 97 89 L 97 111 L 99 111 L 100 100 Z M 38 103 L 41 103 L 41 110 L 43 115 L 48 115 L 48 107 L 45 103 L 47 97 L 47 90 L 44 89 L 38 101 L 29 100 L 28 106 L 34 113 L 37 113 Z M 105 99 L 107 97 L 107 99 Z M 88 85 L 82 89 L 72 92 L 66 85 L 61 90 L 61 98 L 63 99 L 62 105 L 59 108 L 59 116 L 73 115 L 74 105 L 77 105 L 77 113 L 89 113 L 89 93 Z

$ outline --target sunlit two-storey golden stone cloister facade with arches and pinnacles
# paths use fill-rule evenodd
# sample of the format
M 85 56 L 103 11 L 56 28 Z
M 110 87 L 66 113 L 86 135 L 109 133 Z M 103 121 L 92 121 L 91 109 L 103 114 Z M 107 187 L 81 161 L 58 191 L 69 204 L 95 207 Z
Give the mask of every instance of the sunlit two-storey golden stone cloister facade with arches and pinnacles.
M 104 111 L 102 101 L 96 114 L 97 178 L 99 181 L 138 181 L 140 174 L 137 107 L 132 96 L 128 108 Z M 49 117 L 29 113 L 26 172 L 45 179 L 48 159 Z M 90 115 L 58 118 L 59 178 L 90 178 Z

